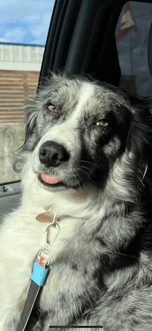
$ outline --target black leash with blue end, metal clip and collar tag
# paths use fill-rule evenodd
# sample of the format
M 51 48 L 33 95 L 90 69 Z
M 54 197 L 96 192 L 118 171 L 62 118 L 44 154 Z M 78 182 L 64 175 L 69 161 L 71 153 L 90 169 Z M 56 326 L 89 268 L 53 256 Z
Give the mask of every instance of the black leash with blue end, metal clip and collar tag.
M 30 276 L 30 289 L 28 290 L 28 296 L 26 298 L 26 303 L 21 314 L 21 321 L 18 325 L 17 331 L 25 330 L 28 323 L 28 319 L 30 318 L 30 314 L 32 312 L 32 308 L 35 304 L 35 300 L 39 293 L 39 289 L 41 288 L 41 286 L 44 285 L 44 282 L 48 275 L 48 264 L 50 262 L 50 245 L 53 243 L 55 237 L 59 232 L 59 226 L 57 225 L 57 222 L 68 217 L 69 216 L 67 215 L 56 219 L 56 215 L 55 217 L 51 217 L 49 212 L 41 213 L 36 217 L 37 221 L 40 221 L 42 223 L 48 223 L 48 226 L 46 227 L 46 242 L 44 247 L 41 247 L 41 249 L 39 250 L 37 260 L 34 262 L 32 268 L 32 274 Z

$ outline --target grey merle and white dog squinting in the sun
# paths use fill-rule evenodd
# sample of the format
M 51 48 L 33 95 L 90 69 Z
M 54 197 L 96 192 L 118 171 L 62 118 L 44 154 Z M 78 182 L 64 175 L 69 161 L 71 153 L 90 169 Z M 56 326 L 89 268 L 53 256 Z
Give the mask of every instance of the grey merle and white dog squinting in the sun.
M 17 330 L 55 226 L 26 330 L 151 330 L 149 106 L 108 83 L 51 74 L 26 111 L 23 195 L 1 226 L 0 330 Z

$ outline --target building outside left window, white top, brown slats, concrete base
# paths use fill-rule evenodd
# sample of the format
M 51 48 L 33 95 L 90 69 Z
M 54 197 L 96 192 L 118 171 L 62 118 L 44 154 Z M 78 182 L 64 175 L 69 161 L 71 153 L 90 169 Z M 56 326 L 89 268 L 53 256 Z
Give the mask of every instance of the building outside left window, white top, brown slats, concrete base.
M 44 46 L 0 42 L 0 183 L 19 180 L 11 155 L 24 142 L 21 105 L 35 96 Z

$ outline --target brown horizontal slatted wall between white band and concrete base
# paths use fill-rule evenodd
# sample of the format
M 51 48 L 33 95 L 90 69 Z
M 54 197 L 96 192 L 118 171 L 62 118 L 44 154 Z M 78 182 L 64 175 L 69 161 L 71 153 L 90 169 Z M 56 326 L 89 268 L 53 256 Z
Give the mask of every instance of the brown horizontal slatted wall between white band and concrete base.
M 38 71 L 0 70 L 0 123 L 20 123 L 21 104 L 35 96 Z

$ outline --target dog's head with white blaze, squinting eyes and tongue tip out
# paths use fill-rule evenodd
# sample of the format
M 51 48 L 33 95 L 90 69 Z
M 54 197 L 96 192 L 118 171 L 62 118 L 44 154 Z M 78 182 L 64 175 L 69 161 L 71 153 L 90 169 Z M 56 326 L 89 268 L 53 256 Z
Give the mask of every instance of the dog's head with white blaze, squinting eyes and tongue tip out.
M 117 87 L 53 75 L 26 108 L 26 143 L 18 160 L 32 158 L 32 171 L 50 191 L 88 183 L 104 189 L 122 155 L 128 168 L 149 160 L 150 112 Z

